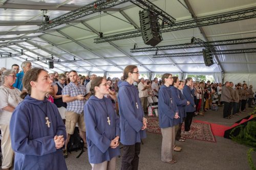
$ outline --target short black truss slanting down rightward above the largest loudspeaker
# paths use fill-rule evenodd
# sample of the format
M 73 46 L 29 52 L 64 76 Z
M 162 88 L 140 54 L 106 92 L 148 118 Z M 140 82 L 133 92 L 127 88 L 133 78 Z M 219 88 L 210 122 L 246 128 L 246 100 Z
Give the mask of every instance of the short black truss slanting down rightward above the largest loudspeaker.
M 138 7 L 142 8 L 143 10 L 149 9 L 151 12 L 155 13 L 158 15 L 158 18 L 164 21 L 165 23 L 169 25 L 173 25 L 176 21 L 176 19 L 163 10 L 161 10 L 159 7 L 154 5 L 153 3 L 147 1 L 147 0 L 136 0 L 136 1 L 131 1 L 131 3 L 137 5 Z

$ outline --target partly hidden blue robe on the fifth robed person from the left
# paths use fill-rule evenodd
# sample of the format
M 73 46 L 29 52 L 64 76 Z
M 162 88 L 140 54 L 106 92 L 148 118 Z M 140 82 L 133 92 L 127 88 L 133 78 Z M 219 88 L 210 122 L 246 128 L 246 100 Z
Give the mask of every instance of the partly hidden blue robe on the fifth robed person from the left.
M 184 117 L 186 117 L 185 107 L 187 105 L 187 100 L 184 98 L 182 92 L 178 88 L 170 86 L 170 90 L 172 91 L 173 99 L 178 106 L 180 123 L 182 123 Z

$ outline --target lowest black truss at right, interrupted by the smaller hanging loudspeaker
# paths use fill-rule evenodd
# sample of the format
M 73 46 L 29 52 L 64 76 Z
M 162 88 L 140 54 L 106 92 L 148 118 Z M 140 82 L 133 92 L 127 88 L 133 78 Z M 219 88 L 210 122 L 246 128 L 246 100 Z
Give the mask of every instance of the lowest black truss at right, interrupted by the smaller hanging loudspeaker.
M 212 52 L 215 55 L 223 54 L 243 54 L 243 53 L 256 53 L 256 48 L 245 48 L 237 50 L 221 50 Z M 163 58 L 163 57 L 188 57 L 188 56 L 202 56 L 203 52 L 191 52 L 191 53 L 172 53 L 172 54 L 158 54 L 153 55 L 153 58 Z

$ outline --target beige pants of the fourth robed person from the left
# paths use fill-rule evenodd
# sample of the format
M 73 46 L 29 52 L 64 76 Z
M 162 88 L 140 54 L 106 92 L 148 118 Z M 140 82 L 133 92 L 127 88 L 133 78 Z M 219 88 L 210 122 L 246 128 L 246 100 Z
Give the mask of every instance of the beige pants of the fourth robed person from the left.
M 169 162 L 173 160 L 174 142 L 175 142 L 175 127 L 161 128 L 162 132 L 162 149 L 161 160 Z

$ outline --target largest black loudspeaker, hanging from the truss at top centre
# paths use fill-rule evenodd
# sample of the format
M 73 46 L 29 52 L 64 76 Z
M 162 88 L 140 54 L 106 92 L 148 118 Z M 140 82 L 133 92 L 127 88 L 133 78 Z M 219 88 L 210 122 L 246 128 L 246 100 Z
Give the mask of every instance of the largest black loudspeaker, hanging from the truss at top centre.
M 159 32 L 157 15 L 153 14 L 149 10 L 144 10 L 139 12 L 139 16 L 140 28 L 144 43 L 147 45 L 156 46 L 163 40 L 161 33 Z

